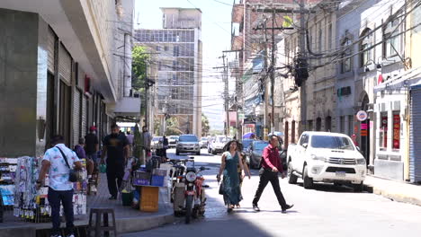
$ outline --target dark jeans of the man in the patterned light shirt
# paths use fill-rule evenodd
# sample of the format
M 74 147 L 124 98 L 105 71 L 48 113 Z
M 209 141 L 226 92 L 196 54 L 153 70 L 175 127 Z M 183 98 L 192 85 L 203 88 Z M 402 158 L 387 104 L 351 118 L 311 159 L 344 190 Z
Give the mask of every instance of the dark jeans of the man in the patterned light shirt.
M 49 188 L 49 206 L 51 206 L 51 222 L 53 224 L 52 234 L 60 233 L 60 202 L 63 205 L 66 216 L 66 231 L 73 233 L 73 189 L 57 191 Z

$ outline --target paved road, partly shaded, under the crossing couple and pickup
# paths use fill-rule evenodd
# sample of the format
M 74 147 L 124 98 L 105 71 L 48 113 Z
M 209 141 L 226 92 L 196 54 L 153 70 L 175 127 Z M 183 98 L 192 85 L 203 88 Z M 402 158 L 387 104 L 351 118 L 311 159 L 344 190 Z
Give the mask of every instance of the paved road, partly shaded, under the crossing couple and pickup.
M 281 189 L 287 202 L 295 205 L 287 214 L 281 213 L 273 189 L 268 185 L 259 203 L 262 211 L 255 213 L 251 201 L 258 183 L 257 171 L 244 183 L 241 208 L 227 214 L 215 179 L 220 156 L 203 150 L 201 156 L 194 157 L 197 164 L 211 168 L 204 173 L 210 185 L 205 216 L 192 224 L 184 224 L 180 218 L 175 224 L 124 236 L 421 236 L 421 206 L 332 185 L 317 185 L 316 189 L 306 190 L 282 180 Z

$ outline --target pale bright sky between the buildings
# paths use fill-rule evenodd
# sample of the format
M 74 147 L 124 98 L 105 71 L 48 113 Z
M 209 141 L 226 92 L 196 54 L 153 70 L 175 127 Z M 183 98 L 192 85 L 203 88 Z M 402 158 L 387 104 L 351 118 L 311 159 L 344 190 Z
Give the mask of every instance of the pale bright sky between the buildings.
M 135 29 L 162 29 L 160 7 L 200 8 L 202 10 L 202 112 L 210 129 L 223 129 L 224 107 L 221 71 L 223 50 L 230 49 L 231 10 L 234 0 L 135 0 Z

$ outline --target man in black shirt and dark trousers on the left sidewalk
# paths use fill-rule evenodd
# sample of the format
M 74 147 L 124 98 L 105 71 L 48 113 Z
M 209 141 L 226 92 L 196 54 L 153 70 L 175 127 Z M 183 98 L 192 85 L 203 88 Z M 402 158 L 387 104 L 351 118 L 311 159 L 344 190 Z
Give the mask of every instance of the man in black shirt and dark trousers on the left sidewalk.
M 107 181 L 110 200 L 117 199 L 118 190 L 121 187 L 121 181 L 124 176 L 124 166 L 129 158 L 129 142 L 127 137 L 120 133 L 120 127 L 117 124 L 112 125 L 112 134 L 103 138 L 103 153 L 101 163 L 107 156 Z M 116 183 L 117 181 L 117 183 Z

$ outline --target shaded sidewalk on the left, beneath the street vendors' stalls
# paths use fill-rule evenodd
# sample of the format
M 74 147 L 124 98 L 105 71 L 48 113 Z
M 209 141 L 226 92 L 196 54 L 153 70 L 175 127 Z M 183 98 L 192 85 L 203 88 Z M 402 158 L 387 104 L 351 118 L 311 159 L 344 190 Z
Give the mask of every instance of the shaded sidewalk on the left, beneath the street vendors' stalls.
M 98 193 L 96 196 L 87 197 L 87 215 L 76 215 L 75 225 L 84 226 L 89 221 L 89 208 L 107 207 L 113 208 L 118 233 L 139 232 L 152 228 L 156 228 L 163 224 L 174 222 L 173 206 L 168 200 L 167 189 L 159 189 L 159 211 L 157 213 L 140 212 L 130 206 L 122 206 L 121 198 L 117 200 L 109 200 L 106 175 L 101 174 Z M 65 224 L 62 223 L 62 227 Z M 50 229 L 51 223 L 25 223 L 21 219 L 13 216 L 13 211 L 4 212 L 4 223 L 0 223 L 0 237 L 2 236 L 35 236 L 37 230 Z

